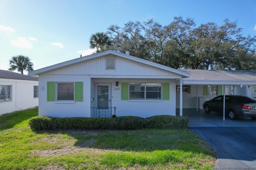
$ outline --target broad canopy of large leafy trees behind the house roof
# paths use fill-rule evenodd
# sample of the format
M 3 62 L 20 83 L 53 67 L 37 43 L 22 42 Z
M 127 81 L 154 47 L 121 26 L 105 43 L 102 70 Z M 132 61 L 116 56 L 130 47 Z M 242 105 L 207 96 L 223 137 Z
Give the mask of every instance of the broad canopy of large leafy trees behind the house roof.
M 196 27 L 192 18 L 179 16 L 166 26 L 151 19 L 107 29 L 102 34 L 108 37 L 108 43 L 100 49 L 113 49 L 175 69 L 256 69 L 256 36 L 243 36 L 236 21 L 225 19 L 221 26 L 208 22 Z

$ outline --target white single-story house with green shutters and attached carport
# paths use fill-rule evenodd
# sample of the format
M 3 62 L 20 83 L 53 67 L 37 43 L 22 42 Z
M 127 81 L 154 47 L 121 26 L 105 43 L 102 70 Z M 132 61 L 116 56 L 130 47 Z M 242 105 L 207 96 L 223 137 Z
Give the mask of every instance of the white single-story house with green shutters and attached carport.
M 39 77 L 39 116 L 182 115 L 217 95 L 256 97 L 256 71 L 178 70 L 113 50 L 29 75 Z

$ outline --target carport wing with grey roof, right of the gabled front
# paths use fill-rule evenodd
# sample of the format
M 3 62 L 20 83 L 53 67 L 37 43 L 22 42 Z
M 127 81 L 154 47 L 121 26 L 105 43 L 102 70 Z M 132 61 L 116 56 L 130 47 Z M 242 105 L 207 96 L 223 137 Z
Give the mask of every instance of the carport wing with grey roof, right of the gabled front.
M 255 70 L 183 70 L 191 76 L 184 78 L 183 108 L 203 109 L 204 101 L 218 95 L 244 95 L 256 99 Z M 177 82 L 178 83 L 178 82 Z M 176 107 L 179 108 L 179 91 L 176 88 Z

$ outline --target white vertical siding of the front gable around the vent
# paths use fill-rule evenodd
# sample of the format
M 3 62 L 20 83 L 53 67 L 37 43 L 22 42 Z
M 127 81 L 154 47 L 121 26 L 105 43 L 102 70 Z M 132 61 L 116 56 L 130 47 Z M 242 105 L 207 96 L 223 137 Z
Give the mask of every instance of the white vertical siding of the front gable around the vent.
M 106 57 L 115 57 L 116 68 L 114 70 L 106 70 Z M 161 75 L 161 76 L 177 76 L 174 73 L 158 69 L 149 65 L 138 63 L 129 59 L 108 55 L 84 61 L 78 64 L 70 65 L 53 71 L 49 71 L 48 75 Z

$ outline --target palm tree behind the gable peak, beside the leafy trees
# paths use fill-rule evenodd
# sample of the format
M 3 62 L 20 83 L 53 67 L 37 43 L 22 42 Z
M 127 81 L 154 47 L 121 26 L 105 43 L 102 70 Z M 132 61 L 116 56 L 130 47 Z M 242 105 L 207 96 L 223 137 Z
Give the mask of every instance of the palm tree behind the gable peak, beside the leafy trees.
M 107 47 L 111 45 L 110 38 L 104 32 L 97 32 L 92 34 L 90 38 L 90 48 L 96 48 L 96 52 L 104 51 Z

